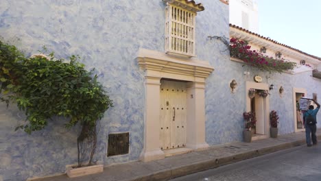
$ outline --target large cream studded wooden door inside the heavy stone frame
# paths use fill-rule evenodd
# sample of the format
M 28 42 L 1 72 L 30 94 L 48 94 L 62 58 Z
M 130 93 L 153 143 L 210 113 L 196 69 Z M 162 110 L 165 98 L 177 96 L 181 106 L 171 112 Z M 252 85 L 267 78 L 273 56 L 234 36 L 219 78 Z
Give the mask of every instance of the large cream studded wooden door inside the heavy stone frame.
M 186 83 L 160 81 L 160 148 L 185 147 Z

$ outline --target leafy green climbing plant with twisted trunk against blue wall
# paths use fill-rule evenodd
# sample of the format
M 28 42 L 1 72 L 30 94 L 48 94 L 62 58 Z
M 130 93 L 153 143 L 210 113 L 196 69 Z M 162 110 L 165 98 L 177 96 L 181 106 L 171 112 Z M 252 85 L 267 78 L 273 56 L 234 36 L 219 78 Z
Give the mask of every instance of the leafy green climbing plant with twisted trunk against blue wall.
M 102 84 L 93 71 L 86 71 L 78 56 L 68 60 L 49 56 L 25 58 L 12 45 L 0 40 L 1 101 L 14 102 L 26 115 L 26 123 L 18 127 L 31 134 L 42 130 L 51 117 L 68 118 L 67 128 L 80 123 L 78 166 L 84 160 L 92 164 L 97 143 L 96 125 L 112 106 Z M 89 156 L 84 154 L 90 150 Z

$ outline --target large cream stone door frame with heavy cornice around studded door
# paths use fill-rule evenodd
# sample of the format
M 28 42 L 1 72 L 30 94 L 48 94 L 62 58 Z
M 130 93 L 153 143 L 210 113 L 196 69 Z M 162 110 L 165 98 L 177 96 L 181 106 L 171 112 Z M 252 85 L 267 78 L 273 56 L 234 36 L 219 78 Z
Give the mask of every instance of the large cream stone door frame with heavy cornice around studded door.
M 187 81 L 186 147 L 209 147 L 205 141 L 205 81 L 214 70 L 209 62 L 180 58 L 166 53 L 139 49 L 139 67 L 145 71 L 144 147 L 140 159 L 165 158 L 160 149 L 160 79 Z

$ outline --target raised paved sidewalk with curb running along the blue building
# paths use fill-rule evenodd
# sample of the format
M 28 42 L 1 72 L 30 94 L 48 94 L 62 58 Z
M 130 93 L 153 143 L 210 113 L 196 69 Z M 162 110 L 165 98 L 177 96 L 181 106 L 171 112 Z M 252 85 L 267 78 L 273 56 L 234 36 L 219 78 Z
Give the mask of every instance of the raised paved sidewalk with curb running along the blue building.
M 321 129 L 317 130 L 321 139 Z M 305 144 L 305 132 L 296 132 L 265 138 L 252 143 L 230 143 L 218 145 L 201 151 L 189 152 L 176 156 L 169 156 L 163 160 L 151 162 L 130 162 L 121 165 L 104 167 L 103 173 L 78 178 L 68 178 L 66 175 L 42 178 L 36 181 L 141 181 L 141 180 L 169 180 L 185 176 L 198 171 L 213 169 L 231 162 L 245 160 L 263 154 L 269 154 L 281 149 Z

